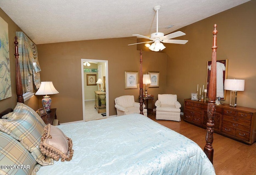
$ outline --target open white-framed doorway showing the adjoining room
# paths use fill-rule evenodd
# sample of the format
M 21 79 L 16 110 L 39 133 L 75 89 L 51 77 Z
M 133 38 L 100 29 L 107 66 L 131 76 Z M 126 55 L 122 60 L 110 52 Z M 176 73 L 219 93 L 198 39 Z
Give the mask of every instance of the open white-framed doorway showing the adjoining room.
M 90 68 L 90 70 L 85 69 L 85 67 L 84 67 L 85 62 L 89 63 L 87 65 L 91 65 L 91 64 L 94 65 L 94 67 L 92 66 L 92 68 Z M 89 67 L 86 66 L 86 68 L 89 68 Z M 86 71 L 90 71 L 90 73 L 86 73 Z M 97 108 L 94 108 L 94 104 L 96 103 L 95 102 L 95 91 L 100 91 L 99 85 L 96 84 L 96 81 L 98 81 L 99 77 L 102 80 L 104 78 L 104 81 L 105 81 L 105 87 L 103 87 L 103 84 L 101 84 L 100 93 L 104 93 L 103 91 L 105 91 L 105 93 L 106 93 L 106 114 L 104 114 L 105 112 L 102 113 L 101 110 L 99 110 L 98 112 L 99 112 L 99 115 L 102 115 L 102 118 L 108 118 L 108 116 L 109 116 L 108 61 L 107 60 L 96 60 L 96 59 L 81 59 L 81 72 L 82 72 L 83 120 L 84 121 L 89 121 L 89 120 L 98 120 L 98 119 L 100 119 L 100 118 L 98 118 L 98 116 L 96 116 L 94 119 L 91 117 L 91 115 L 88 116 L 88 107 L 90 107 L 89 105 L 92 105 L 92 107 L 90 107 L 90 110 L 97 111 Z M 88 77 L 92 77 L 92 78 L 96 77 L 93 80 L 93 82 L 89 82 L 90 86 L 87 86 L 88 82 L 86 82 Z M 104 88 L 104 90 L 103 90 L 103 88 Z M 89 97 L 88 97 L 88 94 L 89 94 Z M 88 104 L 88 105 L 86 106 L 86 104 Z

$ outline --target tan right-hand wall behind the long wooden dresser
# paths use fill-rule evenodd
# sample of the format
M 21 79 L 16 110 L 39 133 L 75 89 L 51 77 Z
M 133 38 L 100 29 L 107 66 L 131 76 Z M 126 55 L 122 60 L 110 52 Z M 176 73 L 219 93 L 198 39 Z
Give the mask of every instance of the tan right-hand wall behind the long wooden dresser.
M 197 84 L 206 85 L 207 61 L 212 56 L 212 31 L 217 24 L 217 60 L 228 59 L 227 79 L 244 79 L 245 89 L 238 92 L 237 105 L 256 108 L 256 0 L 216 14 L 179 29 L 186 33 L 185 45 L 166 44 L 167 93 L 178 94 L 183 103 L 196 92 Z M 178 39 L 178 38 L 177 38 Z M 199 87 L 200 88 L 200 87 Z M 230 91 L 226 100 L 229 104 Z

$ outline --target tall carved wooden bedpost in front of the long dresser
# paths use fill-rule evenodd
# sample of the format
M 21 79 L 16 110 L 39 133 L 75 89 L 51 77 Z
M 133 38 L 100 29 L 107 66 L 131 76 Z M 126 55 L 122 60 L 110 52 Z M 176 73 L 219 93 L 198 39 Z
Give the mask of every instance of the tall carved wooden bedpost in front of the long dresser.
M 213 142 L 213 133 L 214 133 L 214 116 L 216 111 L 215 101 L 216 101 L 216 51 L 217 51 L 217 25 L 214 24 L 214 31 L 212 32 L 213 36 L 213 45 L 212 45 L 212 67 L 210 73 L 210 84 L 209 84 L 209 101 L 207 106 L 207 128 L 206 128 L 206 145 L 204 146 L 204 152 L 207 157 L 213 163 L 213 152 L 212 147 Z

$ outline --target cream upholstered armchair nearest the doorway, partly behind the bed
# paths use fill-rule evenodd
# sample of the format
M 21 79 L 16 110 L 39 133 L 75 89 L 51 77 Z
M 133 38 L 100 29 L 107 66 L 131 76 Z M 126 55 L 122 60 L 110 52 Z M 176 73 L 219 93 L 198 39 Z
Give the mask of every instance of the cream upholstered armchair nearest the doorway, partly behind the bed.
M 126 114 L 140 114 L 140 103 L 134 101 L 133 95 L 124 95 L 117 97 L 115 99 L 115 107 L 117 116 L 122 116 Z M 145 104 L 143 104 L 143 114 L 147 116 L 147 109 L 145 109 Z

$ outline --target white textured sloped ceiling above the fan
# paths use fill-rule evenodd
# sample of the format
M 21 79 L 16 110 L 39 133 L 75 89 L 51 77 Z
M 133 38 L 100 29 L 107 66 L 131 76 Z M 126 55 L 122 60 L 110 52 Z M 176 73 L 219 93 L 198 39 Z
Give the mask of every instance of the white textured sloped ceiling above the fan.
M 249 0 L 0 0 L 0 8 L 36 43 L 172 31 Z M 166 29 L 166 27 L 174 27 Z

